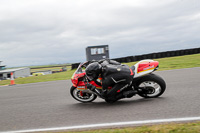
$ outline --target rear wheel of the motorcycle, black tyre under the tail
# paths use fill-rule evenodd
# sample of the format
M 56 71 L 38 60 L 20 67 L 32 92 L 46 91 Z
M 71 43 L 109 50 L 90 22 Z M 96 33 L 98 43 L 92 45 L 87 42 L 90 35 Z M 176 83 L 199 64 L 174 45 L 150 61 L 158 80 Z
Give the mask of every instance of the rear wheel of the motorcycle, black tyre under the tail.
M 156 98 L 164 93 L 166 84 L 160 76 L 149 74 L 139 80 L 137 83 L 137 88 L 141 90 L 138 92 L 138 95 L 141 97 Z

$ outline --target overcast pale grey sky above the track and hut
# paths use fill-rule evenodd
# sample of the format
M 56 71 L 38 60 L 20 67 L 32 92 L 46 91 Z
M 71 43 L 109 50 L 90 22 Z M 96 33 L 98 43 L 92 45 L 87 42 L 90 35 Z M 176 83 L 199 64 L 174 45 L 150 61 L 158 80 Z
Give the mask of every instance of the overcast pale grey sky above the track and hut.
M 83 62 L 107 44 L 110 58 L 200 47 L 200 0 L 0 0 L 7 67 Z

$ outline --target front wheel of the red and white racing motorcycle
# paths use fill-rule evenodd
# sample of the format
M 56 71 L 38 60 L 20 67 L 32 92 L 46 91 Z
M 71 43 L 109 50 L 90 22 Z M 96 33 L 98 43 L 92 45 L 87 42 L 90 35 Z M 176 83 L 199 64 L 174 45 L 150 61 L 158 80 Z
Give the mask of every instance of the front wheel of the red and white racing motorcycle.
M 76 99 L 77 101 L 79 102 L 83 102 L 83 103 L 88 103 L 88 102 L 92 102 L 94 101 L 97 96 L 94 95 L 94 94 L 91 94 L 91 93 L 86 93 L 86 92 L 83 92 L 81 94 L 81 91 L 78 90 L 76 87 L 72 86 L 71 89 L 70 89 L 70 94 L 71 96 Z

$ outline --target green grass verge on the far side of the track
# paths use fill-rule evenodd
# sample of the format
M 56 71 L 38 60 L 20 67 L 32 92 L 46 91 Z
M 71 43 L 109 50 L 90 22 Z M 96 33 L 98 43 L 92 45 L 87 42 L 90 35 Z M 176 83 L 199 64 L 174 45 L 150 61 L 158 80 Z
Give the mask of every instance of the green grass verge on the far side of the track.
M 155 59 L 155 60 L 159 61 L 159 69 L 158 69 L 159 71 L 200 67 L 200 54 L 161 58 L 161 59 Z M 132 66 L 135 63 L 136 62 L 124 63 L 124 64 Z M 15 79 L 15 83 L 27 84 L 27 83 L 46 82 L 46 81 L 55 81 L 55 80 L 67 80 L 71 78 L 74 71 L 75 70 L 68 69 L 68 71 L 66 72 L 60 72 L 60 73 L 55 73 L 55 74 L 50 74 L 50 75 L 17 78 Z M 10 84 L 10 80 L 0 81 L 0 85 L 8 85 L 8 84 Z

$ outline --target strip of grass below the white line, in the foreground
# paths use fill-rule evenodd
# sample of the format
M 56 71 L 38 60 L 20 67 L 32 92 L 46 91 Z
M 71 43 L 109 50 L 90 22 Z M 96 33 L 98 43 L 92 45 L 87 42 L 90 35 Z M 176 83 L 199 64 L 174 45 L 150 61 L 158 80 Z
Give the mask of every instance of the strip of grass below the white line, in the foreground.
M 200 122 L 157 124 L 151 126 L 101 129 L 89 131 L 63 131 L 57 133 L 200 133 Z

